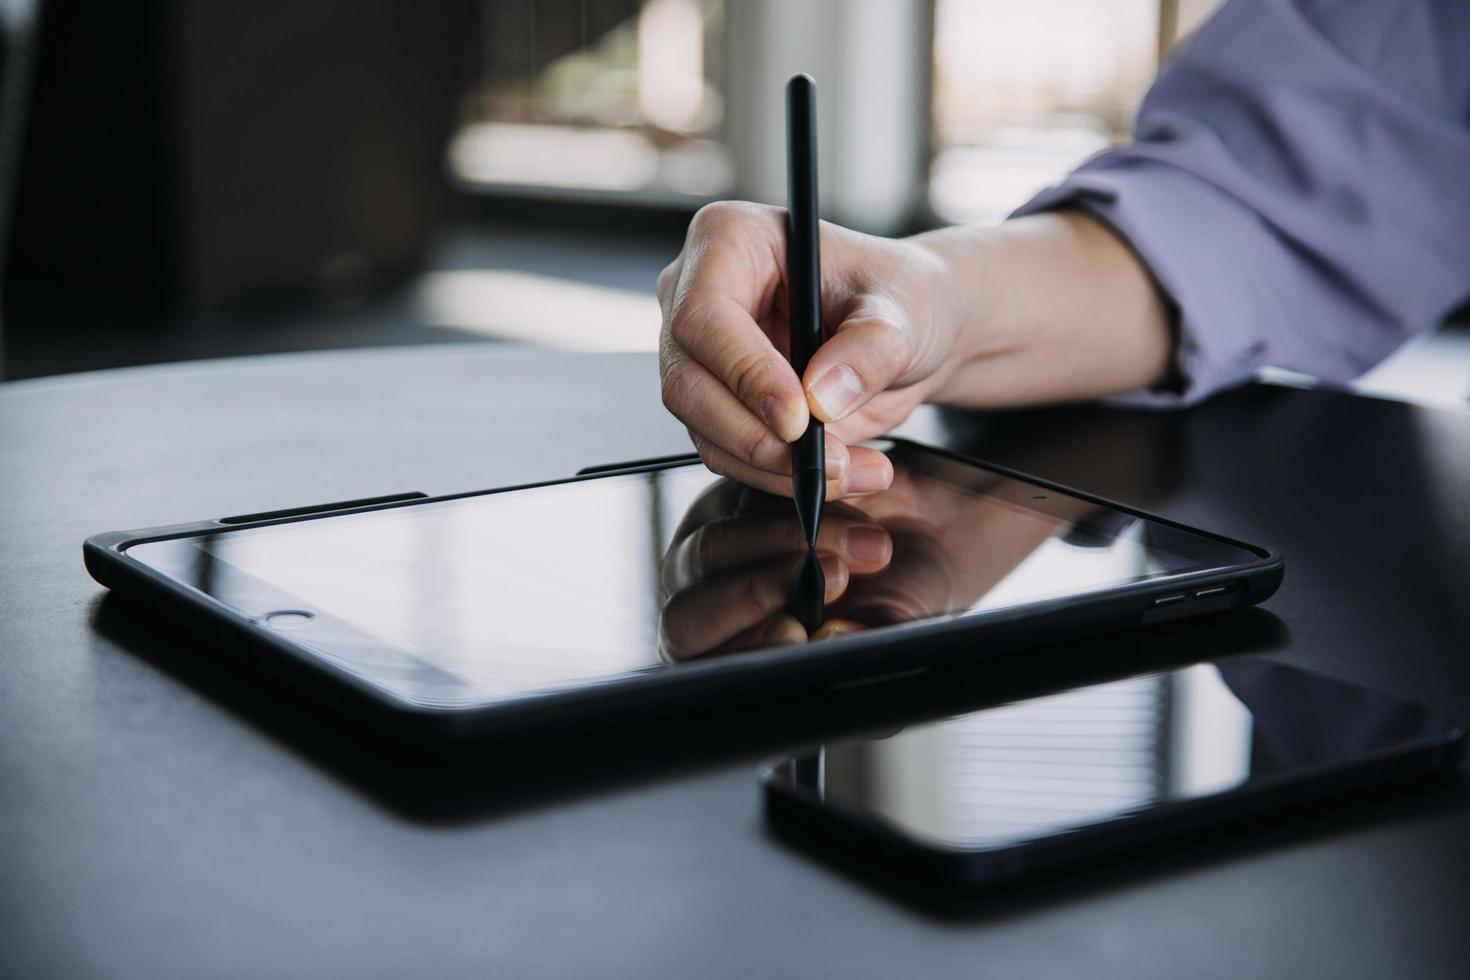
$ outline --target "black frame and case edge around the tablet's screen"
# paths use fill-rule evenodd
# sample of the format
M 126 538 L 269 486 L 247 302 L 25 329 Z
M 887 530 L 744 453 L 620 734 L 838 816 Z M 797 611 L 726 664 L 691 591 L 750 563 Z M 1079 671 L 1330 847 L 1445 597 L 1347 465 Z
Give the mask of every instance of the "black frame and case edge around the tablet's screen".
M 413 729 L 437 733 L 509 732 L 516 729 L 560 727 L 570 721 L 613 720 L 623 713 L 647 714 L 660 708 L 688 708 L 700 702 L 726 701 L 759 689 L 770 691 L 778 677 L 786 689 L 838 683 L 885 673 L 922 670 L 960 657 L 975 657 L 975 641 L 986 639 L 985 655 L 1003 655 L 1069 636 L 1111 632 L 1150 621 L 1163 621 L 1251 605 L 1270 597 L 1280 583 L 1285 563 L 1270 550 L 1232 539 L 1226 535 L 1191 527 L 1133 507 L 1119 504 L 1060 483 L 1019 473 L 1004 466 L 975 460 L 938 447 L 906 439 L 888 439 L 908 451 L 932 453 L 998 476 L 1066 494 L 1129 516 L 1155 522 L 1192 535 L 1244 550 L 1252 561 L 1170 574 L 1113 586 L 1082 595 L 1042 599 L 994 611 L 956 617 L 916 620 L 869 632 L 833 638 L 819 645 L 775 646 L 742 652 L 738 657 L 706 658 L 676 667 L 656 667 L 589 679 L 569 686 L 550 688 L 514 696 L 466 699 L 459 702 L 422 701 L 403 696 L 391 688 L 363 677 L 318 651 L 297 642 L 282 630 L 268 627 L 240 610 L 200 589 L 171 577 L 129 557 L 129 548 L 178 538 L 223 535 L 237 530 L 329 520 L 344 514 L 417 507 L 442 501 L 528 491 L 542 486 L 647 473 L 697 463 L 697 457 L 672 457 L 616 469 L 601 469 L 562 480 L 448 494 L 442 497 L 382 498 L 348 501 L 344 505 L 293 508 L 273 514 L 225 517 L 166 527 L 119 530 L 94 535 L 84 545 L 84 557 L 100 583 L 141 598 L 157 611 L 220 642 L 251 655 L 262 666 L 304 685 L 341 707 L 366 713 L 379 720 L 407 723 Z M 1180 591 L 1232 585 L 1226 594 L 1188 602 L 1155 607 L 1154 601 Z M 379 644 L 384 649 L 392 649 Z M 415 658 L 412 652 L 394 651 Z M 769 696 L 769 695 L 767 695 Z

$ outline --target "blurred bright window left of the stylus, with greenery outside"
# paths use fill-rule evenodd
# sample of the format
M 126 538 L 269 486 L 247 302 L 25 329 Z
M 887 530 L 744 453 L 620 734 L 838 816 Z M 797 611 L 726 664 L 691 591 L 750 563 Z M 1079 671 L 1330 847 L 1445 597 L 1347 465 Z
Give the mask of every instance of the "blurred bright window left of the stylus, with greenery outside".
M 722 0 L 482 0 L 454 179 L 656 204 L 723 195 L 722 19 Z

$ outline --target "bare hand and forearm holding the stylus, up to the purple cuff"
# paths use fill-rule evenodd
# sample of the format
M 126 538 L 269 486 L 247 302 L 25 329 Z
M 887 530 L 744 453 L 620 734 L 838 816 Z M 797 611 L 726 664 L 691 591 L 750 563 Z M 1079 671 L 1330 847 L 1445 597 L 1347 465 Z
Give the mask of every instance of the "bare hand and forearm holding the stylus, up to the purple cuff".
M 892 482 L 854 445 L 923 401 L 1003 407 L 1173 383 L 1173 314 L 1148 270 L 1079 212 L 906 239 L 822 225 L 829 339 L 786 360 L 785 212 L 700 210 L 659 276 L 663 403 L 713 472 L 791 494 L 791 448 L 828 423 L 828 500 Z

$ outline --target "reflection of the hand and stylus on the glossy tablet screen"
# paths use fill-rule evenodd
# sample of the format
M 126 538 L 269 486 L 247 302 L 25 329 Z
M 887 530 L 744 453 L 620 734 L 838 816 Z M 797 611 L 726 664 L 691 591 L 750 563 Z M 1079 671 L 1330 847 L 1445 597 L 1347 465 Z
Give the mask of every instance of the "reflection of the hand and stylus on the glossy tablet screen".
M 1092 505 L 1060 498 L 1050 508 L 1042 517 L 895 467 L 886 491 L 826 507 L 825 608 L 808 635 L 788 608 L 806 557 L 791 502 L 722 480 L 694 502 L 664 555 L 660 649 L 686 660 L 961 613 Z

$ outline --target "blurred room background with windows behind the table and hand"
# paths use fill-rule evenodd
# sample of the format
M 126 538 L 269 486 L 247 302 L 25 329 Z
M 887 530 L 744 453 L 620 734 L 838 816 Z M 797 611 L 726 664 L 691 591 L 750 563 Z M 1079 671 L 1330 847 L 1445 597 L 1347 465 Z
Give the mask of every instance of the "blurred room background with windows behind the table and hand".
M 484 341 L 654 350 L 704 203 L 994 222 L 1214 0 L 0 0 L 0 376 Z M 1361 382 L 1464 404 L 1441 331 Z

